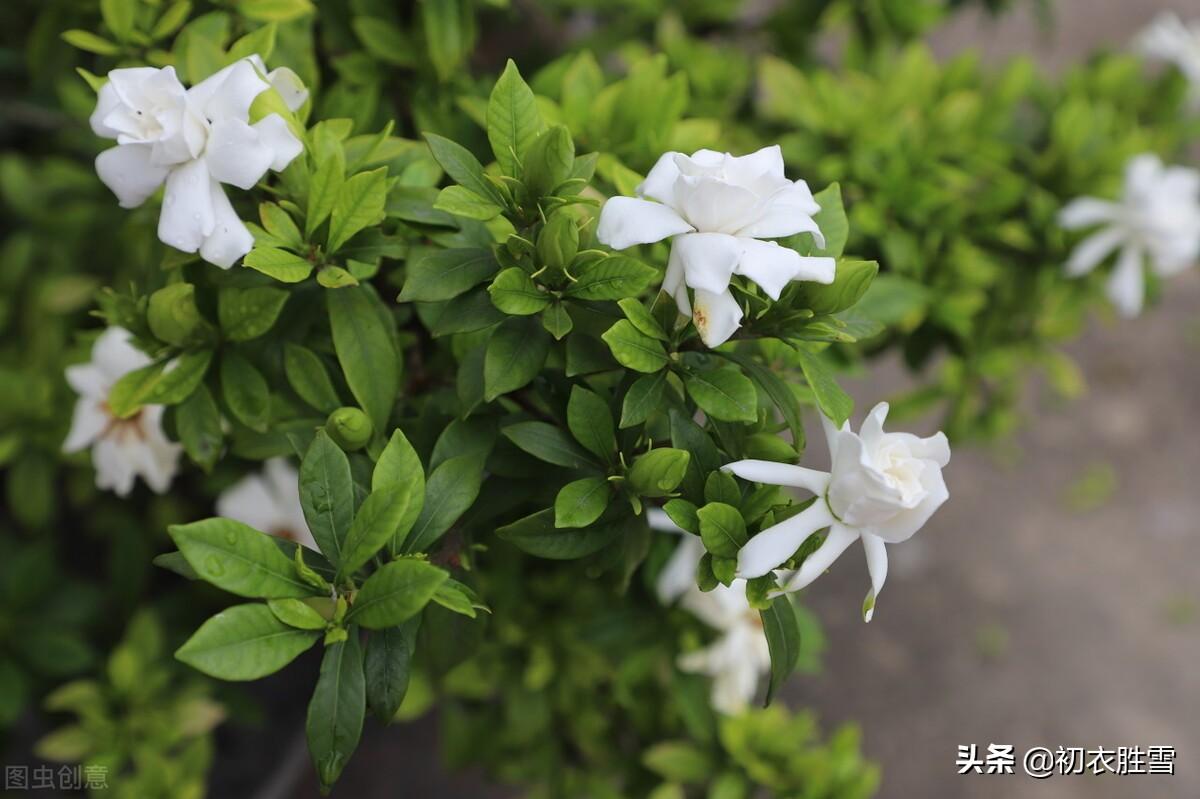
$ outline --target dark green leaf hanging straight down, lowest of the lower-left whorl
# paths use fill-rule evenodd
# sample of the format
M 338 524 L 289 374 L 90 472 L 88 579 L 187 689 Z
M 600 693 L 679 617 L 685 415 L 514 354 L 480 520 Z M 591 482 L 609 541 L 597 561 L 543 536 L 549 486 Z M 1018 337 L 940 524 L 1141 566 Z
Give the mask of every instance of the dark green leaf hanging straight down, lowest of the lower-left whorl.
M 366 702 L 362 648 L 352 629 L 346 641 L 325 647 L 305 723 L 308 753 L 326 792 L 359 746 Z

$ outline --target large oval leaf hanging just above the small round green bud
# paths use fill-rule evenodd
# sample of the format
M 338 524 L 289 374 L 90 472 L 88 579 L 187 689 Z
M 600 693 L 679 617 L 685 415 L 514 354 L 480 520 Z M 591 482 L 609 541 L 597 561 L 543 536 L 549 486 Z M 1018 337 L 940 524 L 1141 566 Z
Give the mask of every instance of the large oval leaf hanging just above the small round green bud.
M 389 429 L 388 417 L 400 394 L 400 354 L 389 329 L 390 312 L 365 286 L 325 296 L 334 350 L 350 394 L 377 431 Z

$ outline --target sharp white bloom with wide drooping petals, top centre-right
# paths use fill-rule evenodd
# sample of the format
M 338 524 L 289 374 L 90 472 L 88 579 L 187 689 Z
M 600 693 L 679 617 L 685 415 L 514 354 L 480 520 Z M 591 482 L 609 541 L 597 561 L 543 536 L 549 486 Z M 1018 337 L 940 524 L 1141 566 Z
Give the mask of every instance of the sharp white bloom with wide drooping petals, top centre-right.
M 637 194 L 605 203 L 596 238 L 624 250 L 674 236 L 662 290 L 692 318 L 708 347 L 728 341 L 742 323 L 731 276 L 744 275 L 773 300 L 790 281 L 833 282 L 833 258 L 804 257 L 761 241 L 811 233 L 824 246 L 812 218 L 821 206 L 808 184 L 784 176 L 778 144 L 742 157 L 713 150 L 667 152 Z

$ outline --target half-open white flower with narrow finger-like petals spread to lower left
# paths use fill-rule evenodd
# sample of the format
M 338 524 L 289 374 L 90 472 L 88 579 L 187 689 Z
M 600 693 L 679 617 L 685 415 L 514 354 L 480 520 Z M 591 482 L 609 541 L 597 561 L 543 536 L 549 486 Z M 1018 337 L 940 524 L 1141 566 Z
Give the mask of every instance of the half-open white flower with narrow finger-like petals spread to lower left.
M 950 461 L 943 433 L 918 438 L 884 433 L 888 403 L 871 409 L 858 433 L 822 417 L 829 445 L 830 471 L 770 461 L 737 461 L 722 467 L 744 480 L 804 488 L 816 501 L 792 518 L 751 537 L 738 553 L 738 576 L 761 577 L 796 554 L 814 533 L 829 534 L 785 583 L 799 590 L 821 576 L 842 552 L 862 539 L 871 590 L 863 618 L 871 620 L 875 601 L 888 576 L 888 543 L 907 541 L 949 498 L 942 468 Z

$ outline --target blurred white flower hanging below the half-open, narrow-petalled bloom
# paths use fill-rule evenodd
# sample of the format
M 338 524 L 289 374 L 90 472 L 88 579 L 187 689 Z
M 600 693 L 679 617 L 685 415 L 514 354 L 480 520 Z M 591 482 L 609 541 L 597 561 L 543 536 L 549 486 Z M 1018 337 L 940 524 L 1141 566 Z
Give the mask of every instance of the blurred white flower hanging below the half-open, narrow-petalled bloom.
M 728 587 L 710 591 L 696 587 L 696 567 L 704 545 L 684 533 L 661 510 L 647 512 L 650 527 L 683 533 L 683 540 L 659 575 L 659 601 L 680 607 L 720 633 L 716 641 L 679 656 L 679 668 L 707 674 L 713 680 L 713 707 L 726 714 L 743 710 L 758 690 L 758 679 L 770 671 L 770 651 L 762 631 L 758 611 L 746 601 L 745 581 L 734 579 Z

